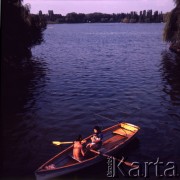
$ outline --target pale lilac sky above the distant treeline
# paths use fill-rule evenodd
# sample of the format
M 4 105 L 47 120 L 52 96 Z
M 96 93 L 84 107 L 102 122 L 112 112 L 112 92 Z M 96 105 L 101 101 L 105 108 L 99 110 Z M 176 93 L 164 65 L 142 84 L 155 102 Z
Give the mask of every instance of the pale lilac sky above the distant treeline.
M 62 15 L 70 12 L 139 13 L 150 9 L 166 13 L 175 7 L 173 0 L 24 0 L 23 4 L 30 4 L 33 14 L 37 14 L 39 10 L 48 14 L 48 10 L 53 10 L 55 14 Z

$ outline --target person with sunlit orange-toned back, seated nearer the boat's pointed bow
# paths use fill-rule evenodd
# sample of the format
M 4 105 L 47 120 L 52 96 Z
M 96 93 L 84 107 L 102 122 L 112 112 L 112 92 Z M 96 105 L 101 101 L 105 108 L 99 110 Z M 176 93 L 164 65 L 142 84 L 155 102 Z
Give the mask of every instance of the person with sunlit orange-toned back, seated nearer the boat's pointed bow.
M 85 156 L 85 152 L 83 150 L 83 145 L 82 145 L 82 136 L 79 135 L 77 139 L 74 141 L 73 158 L 76 159 L 77 161 L 81 161 L 84 156 Z

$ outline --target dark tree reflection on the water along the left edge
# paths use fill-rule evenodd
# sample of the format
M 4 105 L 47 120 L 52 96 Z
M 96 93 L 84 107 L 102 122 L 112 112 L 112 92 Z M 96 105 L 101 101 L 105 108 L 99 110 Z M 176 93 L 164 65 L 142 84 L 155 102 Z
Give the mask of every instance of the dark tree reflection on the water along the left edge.
M 29 154 L 28 142 L 21 142 L 33 129 L 28 110 L 34 108 L 45 86 L 46 64 L 43 59 L 32 57 L 21 61 L 16 68 L 3 66 L 2 123 L 3 123 L 3 176 L 26 174 L 24 166 Z M 39 84 L 41 85 L 39 87 Z M 32 114 L 32 112 L 31 112 Z M 22 157 L 20 159 L 19 157 Z M 27 165 L 27 162 L 26 162 Z M 28 168 L 27 168 L 28 169 Z

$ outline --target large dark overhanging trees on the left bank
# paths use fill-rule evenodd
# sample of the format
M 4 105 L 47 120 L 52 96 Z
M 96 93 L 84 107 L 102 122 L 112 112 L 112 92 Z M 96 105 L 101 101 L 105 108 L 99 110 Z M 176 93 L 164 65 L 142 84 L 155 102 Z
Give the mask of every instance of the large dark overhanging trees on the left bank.
M 26 57 L 31 57 L 31 48 L 43 41 L 46 21 L 30 14 L 30 5 L 22 0 L 2 2 L 2 63 L 16 67 Z

